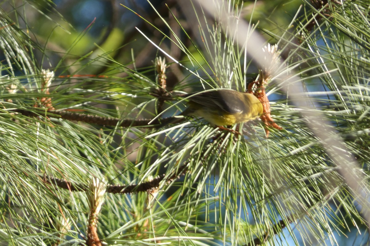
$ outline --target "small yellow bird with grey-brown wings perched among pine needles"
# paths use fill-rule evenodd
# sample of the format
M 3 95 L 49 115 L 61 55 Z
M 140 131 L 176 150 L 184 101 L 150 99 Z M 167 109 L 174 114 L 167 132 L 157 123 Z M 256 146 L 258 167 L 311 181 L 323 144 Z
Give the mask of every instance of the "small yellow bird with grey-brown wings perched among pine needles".
M 189 100 L 188 108 L 181 115 L 202 117 L 216 126 L 250 121 L 260 117 L 263 112 L 262 104 L 256 96 L 231 89 L 181 96 Z

